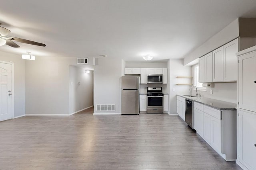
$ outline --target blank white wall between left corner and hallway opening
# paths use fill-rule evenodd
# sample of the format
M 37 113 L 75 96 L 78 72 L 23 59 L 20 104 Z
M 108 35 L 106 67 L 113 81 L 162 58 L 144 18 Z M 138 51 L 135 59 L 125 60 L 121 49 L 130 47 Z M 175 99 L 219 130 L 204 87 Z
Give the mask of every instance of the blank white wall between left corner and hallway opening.
M 36 57 L 26 61 L 26 114 L 68 114 L 69 65 L 76 58 Z

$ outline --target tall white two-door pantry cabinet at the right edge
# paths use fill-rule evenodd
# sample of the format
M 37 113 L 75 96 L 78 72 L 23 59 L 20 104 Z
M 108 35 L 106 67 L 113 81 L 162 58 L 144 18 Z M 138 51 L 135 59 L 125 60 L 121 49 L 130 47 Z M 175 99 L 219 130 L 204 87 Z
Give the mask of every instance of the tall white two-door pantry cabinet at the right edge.
M 236 53 L 237 160 L 245 170 L 256 170 L 256 46 Z

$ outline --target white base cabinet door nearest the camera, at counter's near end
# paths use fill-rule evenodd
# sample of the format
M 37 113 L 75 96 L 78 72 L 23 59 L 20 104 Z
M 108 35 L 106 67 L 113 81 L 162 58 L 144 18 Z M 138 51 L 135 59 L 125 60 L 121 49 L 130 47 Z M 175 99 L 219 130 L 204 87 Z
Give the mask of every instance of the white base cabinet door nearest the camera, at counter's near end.
M 221 120 L 211 117 L 211 146 L 221 152 Z

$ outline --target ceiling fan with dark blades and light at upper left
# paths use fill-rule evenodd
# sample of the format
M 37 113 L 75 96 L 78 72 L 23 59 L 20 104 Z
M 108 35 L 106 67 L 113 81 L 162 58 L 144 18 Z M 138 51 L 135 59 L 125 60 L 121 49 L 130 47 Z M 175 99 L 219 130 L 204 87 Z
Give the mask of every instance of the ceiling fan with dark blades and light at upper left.
M 2 23 L 0 23 L 1 25 Z M 10 37 L 7 36 L 11 31 L 9 29 L 6 29 L 4 27 L 0 27 L 0 46 L 1 45 L 9 45 L 14 48 L 20 47 L 18 44 L 14 43 L 13 41 L 17 41 L 20 43 L 26 43 L 26 44 L 32 44 L 32 45 L 39 45 L 45 47 L 45 44 L 38 43 L 35 41 L 30 41 L 27 39 L 17 38 L 17 37 Z

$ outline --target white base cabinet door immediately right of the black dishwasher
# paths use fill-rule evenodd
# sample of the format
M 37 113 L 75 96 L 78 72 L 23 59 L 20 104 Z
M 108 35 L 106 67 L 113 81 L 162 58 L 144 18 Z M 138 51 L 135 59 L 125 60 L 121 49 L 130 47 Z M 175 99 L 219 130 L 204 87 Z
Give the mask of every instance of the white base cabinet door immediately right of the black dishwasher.
M 194 129 L 203 137 L 203 111 L 194 108 Z

